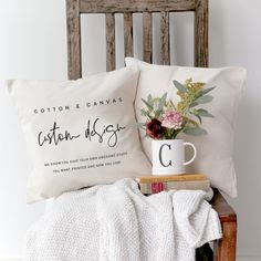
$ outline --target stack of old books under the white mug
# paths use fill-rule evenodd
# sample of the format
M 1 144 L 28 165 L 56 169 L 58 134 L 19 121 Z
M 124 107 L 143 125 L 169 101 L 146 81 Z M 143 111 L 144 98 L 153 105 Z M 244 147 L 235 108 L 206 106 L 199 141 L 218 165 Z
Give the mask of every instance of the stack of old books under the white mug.
M 184 174 L 175 176 L 144 176 L 136 181 L 143 194 L 158 194 L 173 189 L 209 190 L 210 181 L 202 174 Z

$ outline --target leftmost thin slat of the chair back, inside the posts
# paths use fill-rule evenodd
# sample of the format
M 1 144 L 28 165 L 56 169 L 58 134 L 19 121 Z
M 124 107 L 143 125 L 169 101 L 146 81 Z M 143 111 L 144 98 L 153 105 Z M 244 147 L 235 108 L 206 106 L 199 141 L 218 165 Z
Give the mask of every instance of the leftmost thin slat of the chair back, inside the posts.
M 106 70 L 115 70 L 115 18 L 106 13 Z

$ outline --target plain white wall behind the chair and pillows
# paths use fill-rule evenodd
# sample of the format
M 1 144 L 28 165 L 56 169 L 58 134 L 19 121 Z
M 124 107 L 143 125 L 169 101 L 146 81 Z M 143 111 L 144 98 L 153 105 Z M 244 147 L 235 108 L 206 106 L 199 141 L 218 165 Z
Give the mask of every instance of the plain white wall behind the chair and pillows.
M 239 197 L 229 200 L 239 218 L 240 260 L 261 260 L 261 1 L 210 0 L 210 65 L 240 65 L 248 69 L 248 87 L 236 129 L 234 160 Z M 171 17 L 173 56 L 178 64 L 192 63 L 192 15 Z M 83 65 L 88 72 L 104 70 L 105 39 L 103 18 L 83 18 Z M 135 23 L 140 23 L 137 15 Z M 158 18 L 155 22 L 157 34 Z M 181 27 L 181 28 L 178 28 Z M 117 17 L 118 66 L 123 65 L 123 23 Z M 92 31 L 92 29 L 94 29 Z M 66 25 L 63 0 L 0 0 L 0 79 L 66 79 Z M 134 31 L 142 36 L 140 27 Z M 158 38 L 154 38 L 158 44 Z M 184 44 L 185 43 L 185 44 Z M 96 51 L 91 48 L 96 46 Z M 92 50 L 92 51 L 91 51 Z M 190 51 L 187 51 L 190 50 Z M 140 56 L 140 41 L 135 41 Z M 88 58 L 88 60 L 86 60 Z M 157 61 L 156 54 L 155 61 Z M 22 253 L 27 228 L 36 220 L 43 203 L 25 205 L 27 157 L 21 128 L 7 90 L 0 84 L 0 258 Z

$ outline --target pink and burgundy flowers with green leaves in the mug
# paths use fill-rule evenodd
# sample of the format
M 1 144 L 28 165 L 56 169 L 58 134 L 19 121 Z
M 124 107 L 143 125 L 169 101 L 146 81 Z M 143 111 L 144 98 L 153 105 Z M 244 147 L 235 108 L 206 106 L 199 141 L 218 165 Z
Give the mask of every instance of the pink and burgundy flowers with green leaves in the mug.
M 185 84 L 178 81 L 173 83 L 180 97 L 178 104 L 167 100 L 167 93 L 161 97 L 148 95 L 147 101 L 143 98 L 146 108 L 140 112 L 147 121 L 139 123 L 138 127 L 146 129 L 146 135 L 154 139 L 175 139 L 179 133 L 195 136 L 207 134 L 207 130 L 200 127 L 202 117 L 213 115 L 199 105 L 212 101 L 213 97 L 208 93 L 215 87 L 203 88 L 205 83 L 192 82 L 192 79 L 188 79 Z

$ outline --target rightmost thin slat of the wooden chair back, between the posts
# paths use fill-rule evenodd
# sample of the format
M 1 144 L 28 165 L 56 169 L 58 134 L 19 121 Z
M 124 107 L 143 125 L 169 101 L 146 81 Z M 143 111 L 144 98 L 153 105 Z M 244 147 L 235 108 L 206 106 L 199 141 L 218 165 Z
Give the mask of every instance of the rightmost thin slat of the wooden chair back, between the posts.
M 169 12 L 160 13 L 161 60 L 164 65 L 170 64 L 169 50 Z

